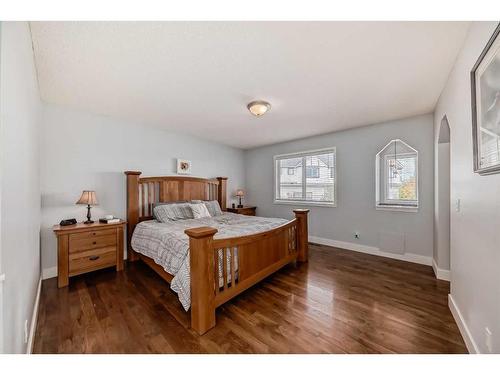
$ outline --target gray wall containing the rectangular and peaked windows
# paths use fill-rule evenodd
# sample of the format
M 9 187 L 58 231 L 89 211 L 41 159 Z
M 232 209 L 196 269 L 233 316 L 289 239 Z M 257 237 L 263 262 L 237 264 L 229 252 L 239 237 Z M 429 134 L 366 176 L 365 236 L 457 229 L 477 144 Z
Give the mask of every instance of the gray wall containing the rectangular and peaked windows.
M 417 213 L 375 210 L 375 155 L 400 138 L 419 152 Z M 337 207 L 310 207 L 311 236 L 380 248 L 381 235 L 404 234 L 405 252 L 426 257 L 433 252 L 433 117 L 409 119 L 286 142 L 245 153 L 247 203 L 258 215 L 291 217 L 293 206 L 273 204 L 273 156 L 335 146 Z M 354 232 L 360 239 L 354 239 Z

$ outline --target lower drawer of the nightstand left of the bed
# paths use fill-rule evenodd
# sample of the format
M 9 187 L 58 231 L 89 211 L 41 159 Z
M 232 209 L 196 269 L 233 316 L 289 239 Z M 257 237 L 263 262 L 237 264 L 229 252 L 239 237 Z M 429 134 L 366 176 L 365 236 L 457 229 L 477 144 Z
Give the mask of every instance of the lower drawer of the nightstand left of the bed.
M 105 247 L 71 254 L 69 256 L 69 276 L 116 265 L 116 247 Z

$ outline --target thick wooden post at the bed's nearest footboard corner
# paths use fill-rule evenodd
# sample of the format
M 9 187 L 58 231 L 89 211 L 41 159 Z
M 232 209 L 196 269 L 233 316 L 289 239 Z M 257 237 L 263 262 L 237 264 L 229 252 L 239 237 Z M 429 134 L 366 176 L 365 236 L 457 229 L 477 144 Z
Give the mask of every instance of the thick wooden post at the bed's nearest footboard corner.
M 191 267 L 191 328 L 203 335 L 215 326 L 215 266 L 213 238 L 217 229 L 186 229 Z

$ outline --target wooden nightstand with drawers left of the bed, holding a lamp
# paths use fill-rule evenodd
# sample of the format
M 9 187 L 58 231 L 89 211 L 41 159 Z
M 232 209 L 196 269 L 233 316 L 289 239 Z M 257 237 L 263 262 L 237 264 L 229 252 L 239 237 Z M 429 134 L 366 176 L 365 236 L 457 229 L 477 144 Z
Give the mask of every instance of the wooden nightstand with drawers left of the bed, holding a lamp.
M 57 285 L 67 286 L 70 276 L 116 266 L 123 269 L 123 228 L 116 224 L 54 225 L 57 236 Z

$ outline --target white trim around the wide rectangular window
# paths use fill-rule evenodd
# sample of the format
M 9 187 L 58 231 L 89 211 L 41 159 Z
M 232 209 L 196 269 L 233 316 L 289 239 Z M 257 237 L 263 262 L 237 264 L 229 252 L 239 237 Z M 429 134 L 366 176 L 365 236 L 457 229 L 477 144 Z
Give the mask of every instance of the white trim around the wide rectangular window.
M 334 173 L 334 179 L 333 179 L 333 199 L 334 201 L 332 203 L 329 202 L 314 202 L 314 201 L 306 201 L 302 199 L 278 199 L 277 198 L 277 193 L 278 193 L 278 186 L 279 186 L 279 174 L 277 173 L 277 161 L 285 158 L 291 158 L 291 157 L 305 157 L 305 156 L 311 156 L 311 155 L 316 155 L 322 152 L 333 152 L 334 155 L 334 167 L 333 167 L 333 173 Z M 327 147 L 327 148 L 320 148 L 316 150 L 308 150 L 308 151 L 301 151 L 301 152 L 291 152 L 289 154 L 280 154 L 280 155 L 274 155 L 273 156 L 273 168 L 274 168 L 274 179 L 273 179 L 273 203 L 274 204 L 284 204 L 284 205 L 299 205 L 299 206 L 310 206 L 310 207 L 337 207 L 337 148 L 336 147 Z M 305 169 L 303 171 L 303 178 L 302 178 L 302 188 L 303 191 L 305 191 Z

